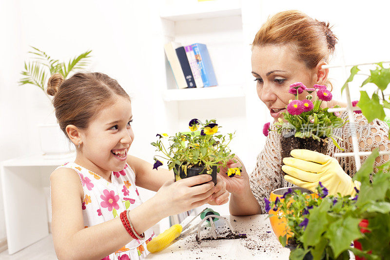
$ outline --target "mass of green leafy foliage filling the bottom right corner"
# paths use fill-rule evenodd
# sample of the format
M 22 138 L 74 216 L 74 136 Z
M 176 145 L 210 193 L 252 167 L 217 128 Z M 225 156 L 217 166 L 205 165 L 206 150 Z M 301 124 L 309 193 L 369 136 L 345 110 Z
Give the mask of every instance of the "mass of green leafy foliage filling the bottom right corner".
M 324 197 L 318 186 L 319 198 L 295 191 L 276 204 L 292 234 L 289 244 L 296 245 L 290 259 L 303 259 L 308 252 L 314 260 L 349 259 L 348 250 L 367 260 L 390 259 L 390 163 L 373 174 L 378 155 L 378 150 L 373 151 L 355 174 L 353 179 L 361 182 L 356 196 Z M 306 228 L 299 225 L 305 218 Z M 369 222 L 369 232 L 360 230 L 363 219 Z M 351 246 L 354 240 L 359 240 L 363 251 Z

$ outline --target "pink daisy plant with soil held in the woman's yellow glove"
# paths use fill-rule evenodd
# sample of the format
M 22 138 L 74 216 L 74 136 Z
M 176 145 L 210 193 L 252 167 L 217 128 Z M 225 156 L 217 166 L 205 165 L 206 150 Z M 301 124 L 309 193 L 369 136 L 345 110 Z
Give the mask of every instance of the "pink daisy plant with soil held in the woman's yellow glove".
M 309 95 L 305 100 L 298 100 L 298 95 L 307 91 Z M 311 95 L 316 92 L 313 100 Z M 334 138 L 333 129 L 342 127 L 347 121 L 343 121 L 334 113 L 328 112 L 328 108 L 321 108 L 322 101 L 330 101 L 332 94 L 323 85 L 314 85 L 307 88 L 302 82 L 295 82 L 290 85 L 289 93 L 295 96 L 286 106 L 287 112 L 282 112 L 283 120 L 278 119 L 274 123 L 276 130 L 270 129 L 270 123 L 263 127 L 263 134 L 268 135 L 269 131 L 277 131 L 282 135 L 281 155 L 282 160 L 290 157 L 293 149 L 309 149 L 325 153 L 328 140 L 341 149 Z M 339 106 L 335 106 L 339 107 Z

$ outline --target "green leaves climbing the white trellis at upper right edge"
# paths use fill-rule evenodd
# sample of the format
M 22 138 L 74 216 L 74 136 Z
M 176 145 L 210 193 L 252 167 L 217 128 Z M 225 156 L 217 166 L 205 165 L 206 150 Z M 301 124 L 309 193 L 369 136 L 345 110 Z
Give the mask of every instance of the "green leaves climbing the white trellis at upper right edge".
M 389 95 L 384 94 L 384 91 L 390 83 L 390 67 L 384 67 L 383 62 L 372 63 L 372 65 L 376 65 L 376 68 L 374 70 L 370 70 L 370 75 L 368 75 L 368 77 L 362 82 L 360 87 L 363 87 L 367 83 L 373 83 L 376 86 L 376 89 L 371 97 L 366 91 L 360 91 L 360 100 L 358 103 L 363 115 L 367 118 L 367 120 L 369 120 L 369 122 L 374 119 L 384 120 L 384 108 L 390 109 Z M 358 74 L 358 71 L 360 71 L 360 69 L 358 69 L 357 66 L 352 67 L 351 75 L 344 83 L 341 92 L 344 91 L 348 82 L 351 82 L 354 76 Z

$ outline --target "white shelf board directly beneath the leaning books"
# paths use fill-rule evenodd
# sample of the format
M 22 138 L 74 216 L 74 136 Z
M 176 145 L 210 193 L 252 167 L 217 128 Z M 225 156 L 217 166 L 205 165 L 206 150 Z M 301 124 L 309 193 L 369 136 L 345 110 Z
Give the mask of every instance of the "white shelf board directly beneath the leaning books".
M 211 100 L 239 97 L 245 97 L 241 86 L 168 89 L 163 93 L 164 101 Z

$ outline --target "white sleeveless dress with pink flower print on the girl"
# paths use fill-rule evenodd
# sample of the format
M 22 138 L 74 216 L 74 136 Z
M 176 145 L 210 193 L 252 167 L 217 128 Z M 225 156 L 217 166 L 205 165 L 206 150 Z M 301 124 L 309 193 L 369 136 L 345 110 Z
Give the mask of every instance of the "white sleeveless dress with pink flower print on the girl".
M 86 228 L 119 218 L 119 214 L 124 210 L 132 210 L 142 203 L 136 187 L 136 175 L 128 164 L 123 170 L 112 172 L 111 183 L 74 162 L 60 167 L 71 168 L 80 177 L 84 191 L 81 207 Z M 149 229 L 145 231 L 145 239 L 131 240 L 124 247 L 118 248 L 115 253 L 105 257 L 104 260 L 144 259 L 149 254 L 146 244 L 152 240 L 153 236 L 153 231 Z

